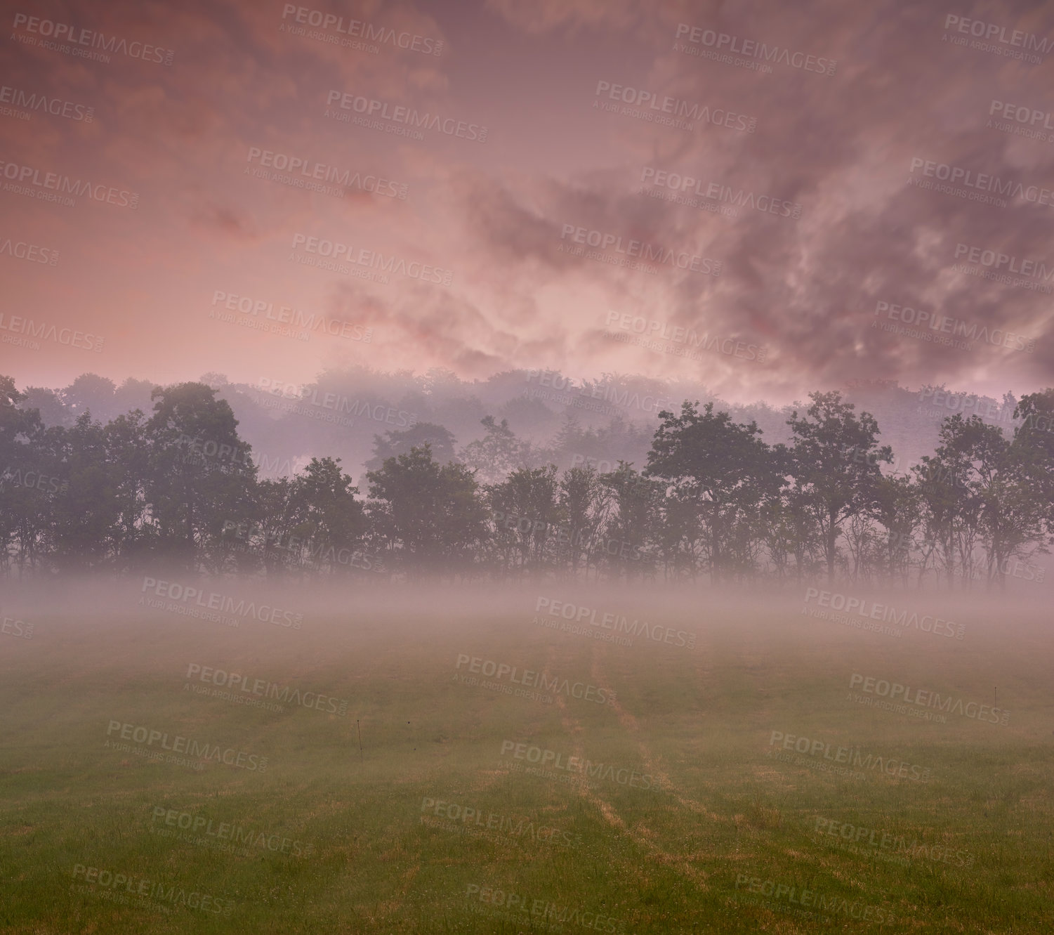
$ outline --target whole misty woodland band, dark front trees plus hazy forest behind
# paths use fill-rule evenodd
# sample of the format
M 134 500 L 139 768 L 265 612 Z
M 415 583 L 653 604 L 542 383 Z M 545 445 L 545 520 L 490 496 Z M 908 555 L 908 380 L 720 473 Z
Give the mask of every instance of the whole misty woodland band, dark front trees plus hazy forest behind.
M 488 382 L 515 391 L 488 411 L 467 391 L 480 385 L 449 374 L 409 389 L 390 377 L 387 395 L 347 383 L 370 375 L 246 388 L 85 374 L 25 392 L 0 377 L 3 571 L 971 588 L 1041 578 L 1030 560 L 1054 532 L 1054 389 L 982 406 L 943 388 L 863 387 L 890 436 L 914 446 L 907 459 L 840 391 L 778 411 L 526 371 Z M 938 413 L 958 400 L 939 422 L 922 416 L 930 453 L 915 453 L 924 428 L 905 434 L 920 423 L 904 397 L 916 410 L 932 397 Z M 344 444 L 325 450 L 329 435 Z M 364 465 L 357 484 L 346 463 Z

